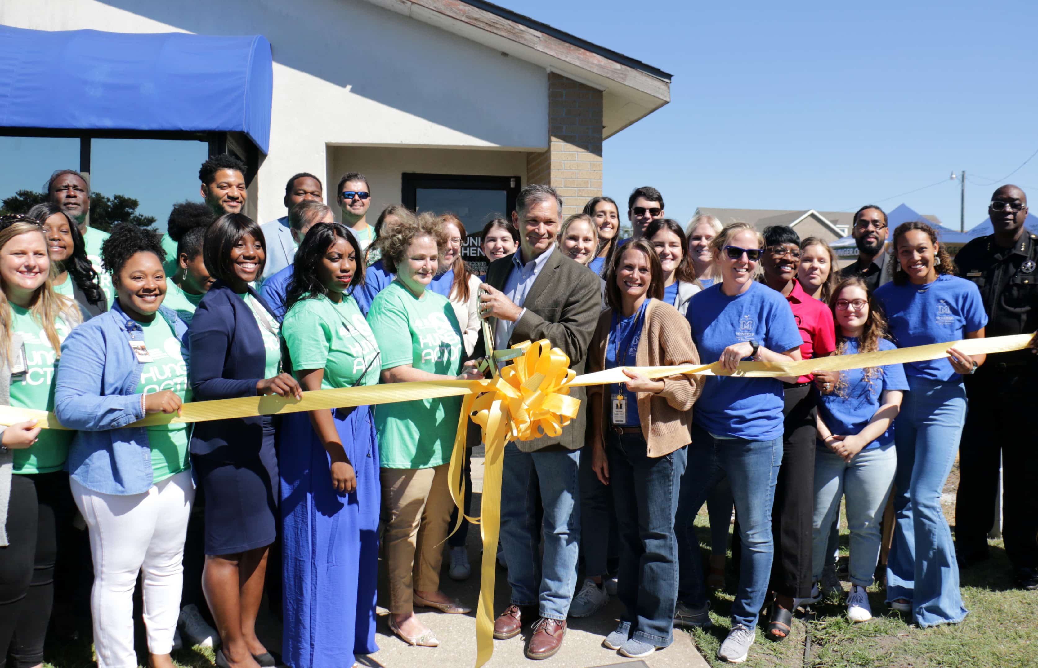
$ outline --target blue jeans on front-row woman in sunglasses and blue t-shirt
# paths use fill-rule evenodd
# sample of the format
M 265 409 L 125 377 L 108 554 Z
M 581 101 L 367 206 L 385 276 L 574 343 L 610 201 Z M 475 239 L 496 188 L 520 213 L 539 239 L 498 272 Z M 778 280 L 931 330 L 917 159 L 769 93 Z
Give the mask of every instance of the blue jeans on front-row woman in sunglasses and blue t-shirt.
M 742 539 L 739 586 L 732 604 L 733 625 L 753 629 L 764 605 L 774 556 L 771 506 L 782 451 L 782 438 L 774 441 L 715 439 L 692 423 L 692 444 L 688 446 L 688 466 L 681 479 L 675 525 L 680 570 L 678 599 L 693 608 L 706 605 L 700 544 L 693 523 L 714 484 L 727 475 L 732 484 Z

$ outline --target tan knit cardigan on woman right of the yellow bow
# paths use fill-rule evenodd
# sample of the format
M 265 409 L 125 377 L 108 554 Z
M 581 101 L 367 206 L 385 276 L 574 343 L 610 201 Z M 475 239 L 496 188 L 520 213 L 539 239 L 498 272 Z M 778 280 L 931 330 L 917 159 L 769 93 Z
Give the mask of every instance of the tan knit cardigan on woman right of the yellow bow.
M 602 311 L 588 354 L 588 371 L 601 371 L 605 367 L 605 346 L 612 325 L 612 309 Z M 641 326 L 635 364 L 637 366 L 671 366 L 699 364 L 700 354 L 692 342 L 688 321 L 670 304 L 653 300 L 646 309 Z M 689 428 L 692 424 L 692 403 L 703 391 L 699 375 L 672 375 L 662 379 L 659 394 L 638 392 L 638 416 L 641 435 L 648 443 L 648 455 L 658 457 L 670 454 L 691 443 Z M 612 428 L 608 409 L 607 386 L 588 388 L 588 402 L 602 406 L 602 434 Z M 589 412 L 591 416 L 591 412 Z M 590 417 L 589 417 L 590 419 Z

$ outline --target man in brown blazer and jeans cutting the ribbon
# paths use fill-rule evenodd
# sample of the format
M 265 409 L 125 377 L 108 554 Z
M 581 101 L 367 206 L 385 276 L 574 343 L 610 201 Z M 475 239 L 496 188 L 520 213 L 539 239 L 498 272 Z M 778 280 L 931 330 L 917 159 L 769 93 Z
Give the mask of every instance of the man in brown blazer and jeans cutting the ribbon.
M 563 255 L 555 244 L 563 200 L 549 186 L 527 186 L 516 199 L 513 222 L 520 248 L 491 263 L 481 293 L 481 315 L 493 317 L 494 347 L 546 338 L 570 358 L 577 373 L 601 311 L 599 278 Z M 483 341 L 474 357 L 485 355 Z M 571 395 L 584 400 L 583 388 Z M 574 420 L 555 438 L 509 443 L 501 483 L 501 545 L 509 562 L 512 600 L 494 623 L 494 637 L 514 638 L 522 621 L 536 619 L 526 648 L 529 659 L 547 659 L 566 634 L 566 616 L 577 584 L 580 544 L 579 448 L 584 420 Z M 537 501 L 544 508 L 544 557 Z

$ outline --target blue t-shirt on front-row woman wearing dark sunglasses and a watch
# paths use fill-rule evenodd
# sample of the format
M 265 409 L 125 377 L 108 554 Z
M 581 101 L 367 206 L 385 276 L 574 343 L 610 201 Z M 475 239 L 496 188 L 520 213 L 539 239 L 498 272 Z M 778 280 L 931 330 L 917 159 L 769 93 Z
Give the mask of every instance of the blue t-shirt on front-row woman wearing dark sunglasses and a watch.
M 803 343 L 786 298 L 756 281 L 735 297 L 722 293 L 720 283 L 696 293 L 685 317 L 704 364 L 740 341 L 756 339 L 776 353 Z M 771 441 L 782 437 L 784 403 L 776 379 L 708 375 L 692 420 L 716 436 Z

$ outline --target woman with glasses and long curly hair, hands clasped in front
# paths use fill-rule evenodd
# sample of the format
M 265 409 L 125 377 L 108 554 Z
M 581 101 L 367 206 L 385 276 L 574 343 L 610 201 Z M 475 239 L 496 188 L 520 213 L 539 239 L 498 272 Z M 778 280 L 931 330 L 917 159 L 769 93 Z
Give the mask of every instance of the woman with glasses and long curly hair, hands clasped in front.
M 829 301 L 837 323 L 836 355 L 893 351 L 885 338 L 886 321 L 859 277 L 837 285 Z M 850 529 L 850 595 L 847 616 L 851 621 L 872 619 L 866 589 L 879 558 L 879 523 L 894 483 L 897 451 L 894 419 L 908 389 L 901 364 L 887 364 L 841 371 L 836 382 L 816 379 L 820 397 L 815 418 L 818 446 L 815 449 L 815 512 L 812 527 L 814 582 L 822 577 L 829 533 L 840 514 L 840 499 L 847 498 Z M 819 595 L 818 586 L 812 597 Z

